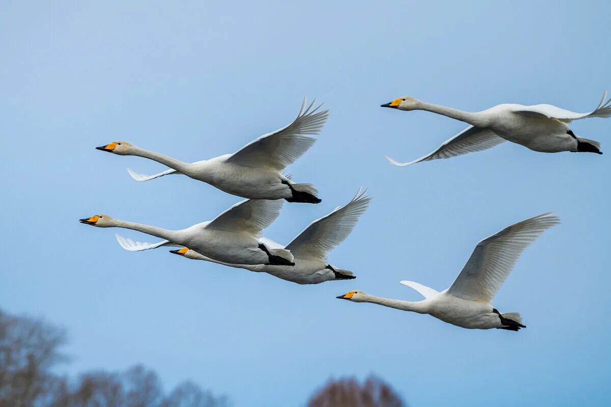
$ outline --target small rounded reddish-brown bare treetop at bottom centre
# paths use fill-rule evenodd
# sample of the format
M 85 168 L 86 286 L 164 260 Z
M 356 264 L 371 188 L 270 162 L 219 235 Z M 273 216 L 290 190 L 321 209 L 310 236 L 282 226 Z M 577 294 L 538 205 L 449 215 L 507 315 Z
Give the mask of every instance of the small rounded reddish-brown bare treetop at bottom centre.
M 355 378 L 329 380 L 316 392 L 308 407 L 405 407 L 401 398 L 390 386 L 375 376 L 369 376 L 364 384 Z

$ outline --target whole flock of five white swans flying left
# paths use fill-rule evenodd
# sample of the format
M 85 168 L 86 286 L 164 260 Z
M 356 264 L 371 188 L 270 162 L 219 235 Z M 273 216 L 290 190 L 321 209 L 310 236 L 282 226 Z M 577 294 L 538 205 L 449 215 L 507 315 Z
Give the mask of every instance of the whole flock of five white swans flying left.
M 598 107 L 589 113 L 575 113 L 549 104 L 500 104 L 481 112 L 464 112 L 409 96 L 397 98 L 381 106 L 398 110 L 428 110 L 464 121 L 470 126 L 419 159 L 406 163 L 399 163 L 388 156 L 387 159 L 393 165 L 404 167 L 482 151 L 505 140 L 544 153 L 572 151 L 602 154 L 598 142 L 577 136 L 568 128 L 568 124 L 581 118 L 610 117 L 611 99 L 606 100 L 606 96 L 605 92 Z M 109 215 L 94 215 L 79 222 L 98 228 L 132 229 L 163 239 L 155 243 L 136 242 L 116 234 L 120 246 L 128 251 L 180 247 L 170 250 L 170 253 L 187 259 L 264 272 L 298 284 L 356 278 L 353 272 L 329 264 L 327 254 L 348 237 L 367 211 L 371 201 L 367 190 L 359 189 L 352 200 L 310 223 L 285 246 L 262 235 L 263 229 L 279 216 L 284 201 L 321 201 L 313 184 L 296 183 L 290 175 L 283 173 L 288 165 L 316 142 L 309 136 L 319 134 L 329 117 L 329 111 L 320 110 L 321 106 L 315 107 L 315 101 L 307 106 L 304 99 L 299 114 L 288 126 L 262 135 L 236 153 L 193 163 L 123 141 L 97 147 L 120 156 L 144 157 L 169 167 L 155 175 L 141 175 L 128 168 L 128 173 L 136 181 L 186 175 L 246 200 L 233 205 L 213 220 L 181 230 L 128 222 Z M 441 292 L 414 281 L 401 281 L 404 286 L 419 292 L 425 298 L 422 301 L 376 297 L 360 290 L 349 291 L 337 298 L 429 314 L 463 328 L 518 331 L 525 328 L 521 315 L 518 312 L 499 312 L 493 308 L 492 298 L 524 249 L 558 223 L 560 219 L 548 213 L 514 223 L 486 237 L 477 243 L 454 283 Z

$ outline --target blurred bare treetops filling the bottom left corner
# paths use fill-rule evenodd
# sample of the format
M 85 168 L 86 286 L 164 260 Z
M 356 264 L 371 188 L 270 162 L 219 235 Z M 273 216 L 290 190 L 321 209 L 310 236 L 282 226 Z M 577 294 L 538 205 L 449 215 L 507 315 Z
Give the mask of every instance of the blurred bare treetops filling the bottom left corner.
M 56 326 L 0 311 L 0 407 L 227 407 L 185 382 L 169 395 L 153 370 L 142 365 L 126 372 L 93 371 L 78 380 L 52 373 L 66 357 L 65 333 Z

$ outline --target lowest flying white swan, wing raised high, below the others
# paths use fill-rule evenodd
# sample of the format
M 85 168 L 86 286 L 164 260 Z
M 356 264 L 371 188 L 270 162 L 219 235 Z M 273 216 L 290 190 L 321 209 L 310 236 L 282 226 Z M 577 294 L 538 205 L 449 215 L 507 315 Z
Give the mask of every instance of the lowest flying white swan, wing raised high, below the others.
M 401 281 L 419 292 L 425 300 L 401 301 L 350 291 L 337 298 L 356 303 L 374 303 L 390 308 L 429 314 L 452 325 L 469 329 L 518 331 L 526 328 L 518 312 L 501 314 L 491 305 L 522 251 L 560 219 L 543 214 L 516 223 L 481 240 L 452 286 L 438 292 L 414 281 Z

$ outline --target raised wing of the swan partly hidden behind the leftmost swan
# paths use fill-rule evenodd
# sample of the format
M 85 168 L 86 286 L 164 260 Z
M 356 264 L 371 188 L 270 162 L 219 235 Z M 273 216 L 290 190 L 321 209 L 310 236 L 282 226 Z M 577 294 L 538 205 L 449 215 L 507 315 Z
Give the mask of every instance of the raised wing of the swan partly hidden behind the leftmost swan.
M 367 210 L 371 195 L 361 189 L 345 206 L 337 207 L 328 215 L 310 223 L 285 247 L 296 258 L 315 258 L 327 261 L 327 253 L 342 243 L 352 232 L 359 218 Z

